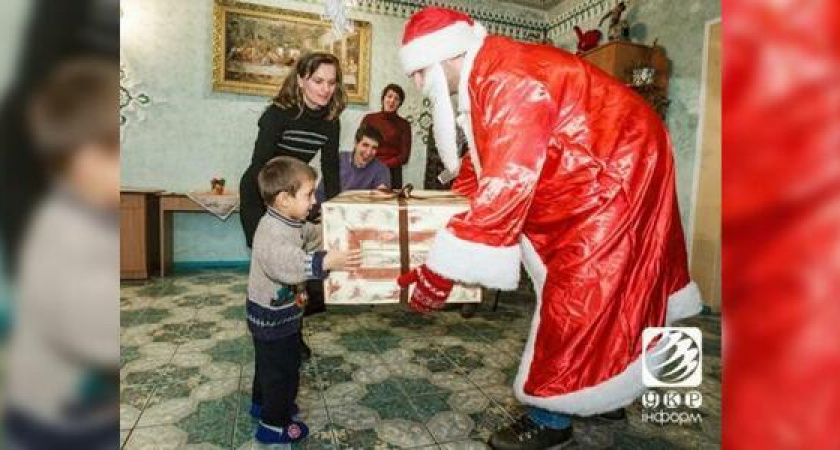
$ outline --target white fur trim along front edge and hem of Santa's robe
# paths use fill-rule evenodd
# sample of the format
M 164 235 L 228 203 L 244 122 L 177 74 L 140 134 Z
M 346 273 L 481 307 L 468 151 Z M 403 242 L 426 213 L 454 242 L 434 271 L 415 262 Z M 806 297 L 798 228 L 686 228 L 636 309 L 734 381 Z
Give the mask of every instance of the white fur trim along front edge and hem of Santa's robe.
M 540 308 L 542 306 L 542 290 L 545 286 L 546 268 L 534 246 L 524 236 L 521 246 L 525 270 L 531 276 L 531 280 L 534 282 L 534 290 L 537 293 L 537 306 L 534 318 L 531 320 L 531 330 L 528 333 L 528 342 L 525 344 L 525 352 L 519 364 L 519 372 L 513 384 L 516 398 L 527 405 L 581 416 L 612 411 L 632 403 L 645 389 L 642 384 L 641 356 L 630 363 L 623 372 L 595 386 L 553 397 L 534 397 L 525 393 L 525 380 L 528 379 L 531 361 L 534 359 L 534 341 L 540 326 Z M 697 284 L 692 281 L 668 297 L 666 325 L 698 314 L 702 309 L 700 290 Z M 648 354 L 653 353 L 655 351 L 648 352 Z

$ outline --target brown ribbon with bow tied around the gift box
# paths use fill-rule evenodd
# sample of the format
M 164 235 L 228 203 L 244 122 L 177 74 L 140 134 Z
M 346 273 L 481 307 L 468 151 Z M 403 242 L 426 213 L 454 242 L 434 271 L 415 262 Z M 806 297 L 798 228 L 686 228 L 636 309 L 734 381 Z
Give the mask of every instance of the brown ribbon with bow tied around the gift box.
M 413 193 L 414 186 L 406 184 L 402 189 L 376 189 L 360 193 L 359 195 L 349 195 L 345 198 L 358 201 L 396 201 L 398 208 L 398 243 L 400 252 L 400 273 L 405 273 L 411 270 L 409 258 L 409 229 L 408 229 L 408 202 L 409 200 L 422 200 L 434 202 L 439 200 L 443 203 L 448 203 L 451 200 L 461 199 L 463 197 L 452 194 L 448 191 L 425 192 L 417 195 Z M 400 289 L 400 302 L 408 302 L 408 289 Z

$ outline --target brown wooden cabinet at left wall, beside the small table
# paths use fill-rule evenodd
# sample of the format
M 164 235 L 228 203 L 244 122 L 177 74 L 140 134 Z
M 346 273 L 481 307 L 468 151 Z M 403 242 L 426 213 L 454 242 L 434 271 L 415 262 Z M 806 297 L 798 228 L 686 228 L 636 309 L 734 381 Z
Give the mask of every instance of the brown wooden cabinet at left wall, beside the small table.
M 158 268 L 159 192 L 120 191 L 120 279 L 146 279 Z

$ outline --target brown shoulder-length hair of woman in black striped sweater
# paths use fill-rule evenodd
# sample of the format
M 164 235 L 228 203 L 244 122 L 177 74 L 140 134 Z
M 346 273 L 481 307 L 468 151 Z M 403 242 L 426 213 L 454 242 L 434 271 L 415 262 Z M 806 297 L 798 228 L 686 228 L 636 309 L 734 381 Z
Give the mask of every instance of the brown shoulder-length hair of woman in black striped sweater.
M 329 53 L 309 53 L 301 57 L 295 70 L 286 76 L 280 92 L 274 97 L 275 105 L 287 109 L 297 107 L 300 114 L 303 114 L 303 90 L 298 85 L 298 77 L 307 79 L 321 67 L 322 64 L 329 64 L 335 67 L 335 92 L 327 105 L 327 120 L 335 120 L 347 106 L 347 91 L 344 89 L 344 80 L 341 76 L 341 64 L 338 58 Z

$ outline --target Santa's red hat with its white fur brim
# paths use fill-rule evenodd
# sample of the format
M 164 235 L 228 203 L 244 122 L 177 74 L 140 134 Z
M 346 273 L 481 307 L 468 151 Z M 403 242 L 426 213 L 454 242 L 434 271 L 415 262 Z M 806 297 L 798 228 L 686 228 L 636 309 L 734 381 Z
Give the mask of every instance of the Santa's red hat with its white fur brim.
M 454 58 L 480 44 L 484 27 L 462 12 L 427 7 L 408 19 L 403 32 L 400 61 L 406 75 Z

